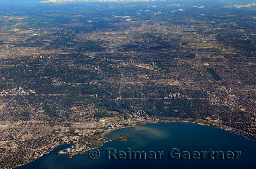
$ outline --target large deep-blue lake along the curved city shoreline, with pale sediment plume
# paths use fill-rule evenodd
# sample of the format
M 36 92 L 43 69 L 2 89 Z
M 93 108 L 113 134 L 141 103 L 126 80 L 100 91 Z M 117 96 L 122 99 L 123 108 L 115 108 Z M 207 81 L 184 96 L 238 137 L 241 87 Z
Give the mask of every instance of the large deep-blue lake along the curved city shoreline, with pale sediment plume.
M 17 167 L 17 169 L 85 169 L 85 168 L 254 168 L 256 142 L 246 139 L 234 132 L 217 127 L 195 123 L 154 123 L 125 129 L 118 129 L 108 134 L 109 137 L 127 135 L 127 142 L 111 141 L 99 148 L 100 158 L 92 160 L 88 151 L 83 155 L 76 154 L 69 159 L 68 155 L 57 156 L 55 152 L 70 147 L 62 145 L 38 160 Z M 117 151 L 164 151 L 161 159 L 156 160 L 113 160 L 106 159 L 106 148 Z M 172 160 L 168 151 L 178 148 L 180 151 L 242 151 L 235 160 Z

